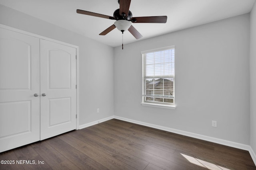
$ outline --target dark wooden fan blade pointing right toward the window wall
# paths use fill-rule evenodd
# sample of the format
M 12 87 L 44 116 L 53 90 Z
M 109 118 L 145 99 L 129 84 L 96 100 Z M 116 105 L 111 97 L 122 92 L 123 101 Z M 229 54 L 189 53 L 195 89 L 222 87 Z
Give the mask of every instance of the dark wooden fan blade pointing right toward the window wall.
M 152 16 L 152 17 L 133 17 L 133 23 L 166 23 L 167 16 Z

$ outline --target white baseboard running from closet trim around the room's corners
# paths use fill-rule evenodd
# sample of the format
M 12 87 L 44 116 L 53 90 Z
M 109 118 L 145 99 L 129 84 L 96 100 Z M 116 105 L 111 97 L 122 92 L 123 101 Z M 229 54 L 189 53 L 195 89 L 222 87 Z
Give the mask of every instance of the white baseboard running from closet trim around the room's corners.
M 91 123 L 86 123 L 84 125 L 80 125 L 79 129 L 83 129 L 83 128 L 86 128 L 86 127 L 89 127 L 89 126 L 92 126 L 92 125 L 96 125 L 98 123 L 108 121 L 110 119 L 119 119 L 119 120 L 131 122 L 131 123 L 136 123 L 138 125 L 144 125 L 144 126 L 147 126 L 147 127 L 152 127 L 152 128 L 160 129 L 160 130 L 163 130 L 163 131 L 176 133 L 176 134 L 179 134 L 179 135 L 185 135 L 185 136 L 193 137 L 193 138 L 196 138 L 196 139 L 202 139 L 204 141 L 209 141 L 209 142 L 218 143 L 218 144 L 221 144 L 221 145 L 226 145 L 228 147 L 234 147 L 234 148 L 237 148 L 237 149 L 247 150 L 250 153 L 254 164 L 256 165 L 256 154 L 255 154 L 254 150 L 252 149 L 252 147 L 250 147 L 249 145 L 244 145 L 244 144 L 241 144 L 241 143 L 226 141 L 226 140 L 223 140 L 223 139 L 218 139 L 218 138 L 214 138 L 214 137 L 199 135 L 199 134 L 196 134 L 196 133 L 191 133 L 191 132 L 181 131 L 181 130 L 177 130 L 177 129 L 172 129 L 172 128 L 169 128 L 169 127 L 163 127 L 163 126 L 159 126 L 159 125 L 145 123 L 145 122 L 142 122 L 142 121 L 127 119 L 127 118 L 124 118 L 124 117 L 119 117 L 119 116 L 106 117 L 104 119 L 100 119 L 100 120 L 97 120 L 97 121 L 93 121 Z

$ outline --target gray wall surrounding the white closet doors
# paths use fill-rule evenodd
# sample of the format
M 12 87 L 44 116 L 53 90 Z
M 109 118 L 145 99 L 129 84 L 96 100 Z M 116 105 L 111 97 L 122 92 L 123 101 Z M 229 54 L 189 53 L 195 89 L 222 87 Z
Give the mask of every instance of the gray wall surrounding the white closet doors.
M 114 114 L 113 47 L 2 5 L 0 23 L 79 46 L 80 125 Z

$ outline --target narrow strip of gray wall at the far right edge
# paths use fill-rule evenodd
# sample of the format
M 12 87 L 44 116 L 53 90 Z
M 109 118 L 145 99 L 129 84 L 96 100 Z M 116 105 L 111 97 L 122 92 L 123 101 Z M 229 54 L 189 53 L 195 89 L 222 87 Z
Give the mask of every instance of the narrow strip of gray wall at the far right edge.
M 256 3 L 250 14 L 250 33 L 250 144 L 256 153 Z

